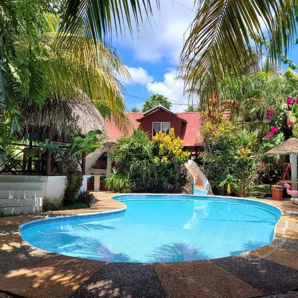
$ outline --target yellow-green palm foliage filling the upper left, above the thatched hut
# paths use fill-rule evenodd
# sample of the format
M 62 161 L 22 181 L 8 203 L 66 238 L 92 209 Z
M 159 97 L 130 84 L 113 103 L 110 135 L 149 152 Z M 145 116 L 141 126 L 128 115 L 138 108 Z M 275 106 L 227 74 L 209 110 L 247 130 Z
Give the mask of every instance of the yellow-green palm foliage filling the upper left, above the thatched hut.
M 0 1 L 0 108 L 10 118 L 10 128 L 9 121 L 2 126 L 9 130 L 8 139 L 20 126 L 17 105 L 24 96 L 42 104 L 47 96 L 70 97 L 77 88 L 120 126 L 125 101 L 116 75 L 129 74 L 117 51 L 103 40 L 114 26 L 122 34 L 125 19 L 132 31 L 133 18 L 138 27 L 142 11 L 149 17 L 150 1 L 139 2 Z

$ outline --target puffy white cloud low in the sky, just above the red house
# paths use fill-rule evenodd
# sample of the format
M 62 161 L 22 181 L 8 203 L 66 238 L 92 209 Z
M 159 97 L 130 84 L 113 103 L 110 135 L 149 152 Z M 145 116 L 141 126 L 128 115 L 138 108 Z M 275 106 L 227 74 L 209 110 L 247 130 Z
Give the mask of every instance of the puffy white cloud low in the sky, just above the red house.
M 154 81 L 146 85 L 148 91 L 152 93 L 159 93 L 166 96 L 171 102 L 171 111 L 182 112 L 186 105 L 177 105 L 176 103 L 188 104 L 187 96 L 183 95 L 184 83 L 181 79 L 176 79 L 176 70 L 168 70 L 167 73 L 163 75 L 163 81 Z M 178 101 L 178 102 L 177 102 Z

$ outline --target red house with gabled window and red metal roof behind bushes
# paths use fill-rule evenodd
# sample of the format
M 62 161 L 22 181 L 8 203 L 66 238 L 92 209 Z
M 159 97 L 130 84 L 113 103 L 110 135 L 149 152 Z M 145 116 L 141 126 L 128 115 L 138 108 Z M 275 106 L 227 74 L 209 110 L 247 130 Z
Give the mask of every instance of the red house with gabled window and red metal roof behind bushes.
M 185 147 L 202 146 L 200 113 L 173 113 L 162 106 L 156 106 L 145 113 L 127 113 L 127 116 L 132 124 L 128 134 L 131 134 L 134 128 L 140 127 L 143 131 L 148 132 L 151 139 L 154 130 L 153 125 L 158 128 L 158 123 L 163 123 L 161 126 L 174 128 L 176 137 L 183 140 Z M 165 125 L 165 123 L 167 124 Z M 113 121 L 106 120 L 106 128 L 108 138 L 111 141 L 123 136 L 123 132 L 115 126 Z

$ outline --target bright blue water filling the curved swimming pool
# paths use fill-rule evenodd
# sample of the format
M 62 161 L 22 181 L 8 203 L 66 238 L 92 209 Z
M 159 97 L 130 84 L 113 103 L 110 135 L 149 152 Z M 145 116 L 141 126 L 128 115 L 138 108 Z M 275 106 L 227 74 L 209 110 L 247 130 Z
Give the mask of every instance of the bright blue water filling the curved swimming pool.
M 281 212 L 241 199 L 177 195 L 117 196 L 127 209 L 33 221 L 29 244 L 109 262 L 175 262 L 232 256 L 269 244 Z

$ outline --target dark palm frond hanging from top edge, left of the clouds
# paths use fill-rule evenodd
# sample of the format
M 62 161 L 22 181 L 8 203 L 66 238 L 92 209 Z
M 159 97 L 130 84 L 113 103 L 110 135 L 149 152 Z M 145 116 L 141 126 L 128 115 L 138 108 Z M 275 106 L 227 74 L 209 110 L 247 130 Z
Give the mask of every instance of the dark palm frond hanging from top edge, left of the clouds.
M 159 9 L 159 0 L 153 0 Z M 112 29 L 116 34 L 123 33 L 123 25 L 127 24 L 132 32 L 135 19 L 137 28 L 140 21 L 152 15 L 152 0 L 66 0 L 62 11 L 60 32 L 69 34 L 78 32 L 83 27 L 87 36 L 93 40 L 104 40 Z

